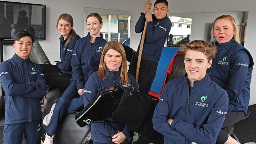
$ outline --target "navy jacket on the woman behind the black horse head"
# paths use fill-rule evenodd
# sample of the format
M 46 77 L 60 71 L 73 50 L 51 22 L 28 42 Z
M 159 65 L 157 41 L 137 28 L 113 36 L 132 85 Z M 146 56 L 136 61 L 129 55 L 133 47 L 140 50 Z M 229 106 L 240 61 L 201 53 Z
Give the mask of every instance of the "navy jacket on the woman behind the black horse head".
M 74 113 L 74 111 L 76 111 L 77 109 L 88 105 L 88 103 L 90 103 L 98 94 L 98 92 L 100 92 L 102 89 L 105 89 L 108 87 L 114 87 L 115 83 L 113 79 L 115 79 L 117 83 L 121 84 L 119 71 L 109 71 L 108 68 L 106 68 L 104 73 L 106 76 L 105 80 L 100 78 L 96 73 L 93 73 L 89 76 L 85 85 L 84 94 L 78 98 L 74 98 L 71 101 L 71 104 L 68 109 L 69 113 Z M 123 84 L 122 86 L 123 87 L 132 86 L 135 89 L 137 89 L 137 83 L 135 82 L 135 78 L 130 74 L 128 74 L 128 77 L 130 79 L 130 83 L 126 85 Z M 126 136 L 126 139 L 128 141 L 132 140 L 134 133 L 131 129 L 126 127 L 124 124 L 121 124 L 115 121 L 113 118 L 107 118 L 106 120 L 108 120 L 108 123 L 110 125 L 109 130 L 110 130 L 111 137 L 117 134 L 117 129 L 114 129 L 113 127 L 119 127 L 119 130 L 122 129 L 121 132 L 124 133 L 124 135 Z M 91 133 L 92 133 L 91 139 L 94 142 L 100 142 L 100 143 L 111 142 L 109 140 L 108 129 L 104 123 L 92 123 Z

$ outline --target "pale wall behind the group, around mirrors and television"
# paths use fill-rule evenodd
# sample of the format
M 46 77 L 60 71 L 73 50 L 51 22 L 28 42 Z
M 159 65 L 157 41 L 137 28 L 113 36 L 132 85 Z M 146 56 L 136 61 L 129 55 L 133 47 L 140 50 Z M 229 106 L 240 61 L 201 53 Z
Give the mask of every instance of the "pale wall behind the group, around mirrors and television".
M 18 0 L 9 0 L 18 1 Z M 74 29 L 83 36 L 83 11 L 84 7 L 102 9 L 115 9 L 131 11 L 132 29 L 130 46 L 137 50 L 140 34 L 134 32 L 135 22 L 144 9 L 146 0 L 19 0 L 19 2 L 46 4 L 46 41 L 40 41 L 41 46 L 53 63 L 59 60 L 59 33 L 56 31 L 56 20 L 61 13 L 69 13 L 74 18 Z M 152 3 L 155 1 L 152 0 Z M 252 57 L 256 57 L 255 33 L 256 33 L 256 1 L 252 0 L 168 0 L 170 13 L 196 13 L 196 12 L 222 12 L 222 11 L 249 11 L 245 47 Z M 13 48 L 5 46 L 4 59 L 13 55 Z M 256 60 L 255 60 L 256 61 Z M 255 70 L 252 73 L 250 104 L 256 103 L 256 78 Z

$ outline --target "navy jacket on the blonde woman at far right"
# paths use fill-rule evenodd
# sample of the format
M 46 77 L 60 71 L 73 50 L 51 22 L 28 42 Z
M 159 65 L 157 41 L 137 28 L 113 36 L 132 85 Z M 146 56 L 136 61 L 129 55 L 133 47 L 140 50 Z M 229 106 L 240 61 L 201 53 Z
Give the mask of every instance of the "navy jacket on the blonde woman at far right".
M 228 93 L 228 110 L 247 113 L 253 59 L 250 52 L 233 39 L 217 44 L 217 54 L 207 70 L 211 79 Z

